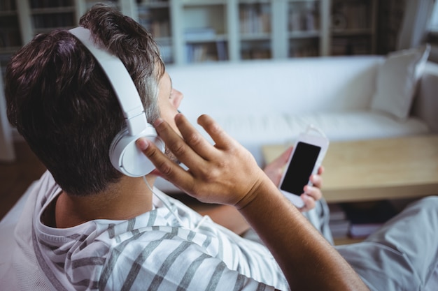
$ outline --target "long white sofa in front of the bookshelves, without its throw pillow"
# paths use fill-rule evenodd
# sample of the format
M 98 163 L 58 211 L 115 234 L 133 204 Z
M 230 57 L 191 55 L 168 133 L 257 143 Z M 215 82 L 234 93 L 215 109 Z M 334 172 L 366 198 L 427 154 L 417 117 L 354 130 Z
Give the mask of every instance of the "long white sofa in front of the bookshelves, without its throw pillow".
M 200 114 L 210 114 L 263 166 L 262 145 L 292 142 L 309 124 L 331 141 L 438 132 L 438 65 L 427 62 L 418 70 L 418 86 L 411 84 L 414 100 L 405 104 L 409 114 L 400 118 L 376 109 L 373 101 L 376 88 L 382 87 L 377 80 L 387 59 L 323 57 L 199 64 L 167 71 L 174 88 L 185 95 L 180 109 L 193 124 Z M 380 80 L 385 77 L 380 75 Z M 392 87 L 397 87 L 396 81 L 391 81 Z M 401 87 L 409 87 L 409 80 L 402 81 Z M 178 191 L 164 180 L 157 187 Z

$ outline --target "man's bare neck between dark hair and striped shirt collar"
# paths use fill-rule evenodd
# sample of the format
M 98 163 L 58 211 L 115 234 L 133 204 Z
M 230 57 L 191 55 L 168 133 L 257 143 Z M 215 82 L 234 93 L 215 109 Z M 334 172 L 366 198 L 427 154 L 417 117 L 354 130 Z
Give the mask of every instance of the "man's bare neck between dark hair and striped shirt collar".
M 153 186 L 155 177 L 146 177 Z M 66 228 L 94 219 L 126 220 L 153 207 L 152 193 L 143 179 L 123 177 L 108 191 L 90 197 L 59 194 L 55 206 L 55 227 Z

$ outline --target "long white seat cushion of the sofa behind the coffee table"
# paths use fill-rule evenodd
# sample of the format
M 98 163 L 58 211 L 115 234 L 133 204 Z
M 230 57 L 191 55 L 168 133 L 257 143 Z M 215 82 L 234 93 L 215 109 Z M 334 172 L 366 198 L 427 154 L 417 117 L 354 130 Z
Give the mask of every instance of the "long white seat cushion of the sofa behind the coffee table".
M 299 133 L 313 124 L 331 142 L 365 140 L 428 133 L 428 126 L 415 117 L 400 122 L 388 114 L 369 110 L 320 112 L 314 114 L 254 114 L 213 117 L 264 165 L 261 146 L 264 144 L 293 144 Z

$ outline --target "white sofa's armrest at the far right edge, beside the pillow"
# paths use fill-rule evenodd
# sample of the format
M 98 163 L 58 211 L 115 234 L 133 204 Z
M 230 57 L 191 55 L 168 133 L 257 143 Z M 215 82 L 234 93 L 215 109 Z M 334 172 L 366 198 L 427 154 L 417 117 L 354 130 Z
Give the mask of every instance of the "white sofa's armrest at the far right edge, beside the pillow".
M 418 84 L 412 115 L 425 121 L 432 132 L 438 133 L 438 64 L 430 61 L 426 64 Z

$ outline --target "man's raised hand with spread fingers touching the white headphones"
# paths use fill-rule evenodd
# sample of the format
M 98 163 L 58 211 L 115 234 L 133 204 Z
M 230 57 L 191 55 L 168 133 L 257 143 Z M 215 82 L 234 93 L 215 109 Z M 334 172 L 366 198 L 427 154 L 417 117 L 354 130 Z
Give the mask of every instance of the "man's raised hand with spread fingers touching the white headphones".
M 168 179 L 189 195 L 202 202 L 245 207 L 260 184 L 271 183 L 248 150 L 216 124 L 202 115 L 199 125 L 216 143 L 210 144 L 182 114 L 175 117 L 178 135 L 167 122 L 158 119 L 155 129 L 170 151 L 188 167 L 184 170 L 164 156 L 146 139 L 138 147 L 153 161 L 160 176 Z

